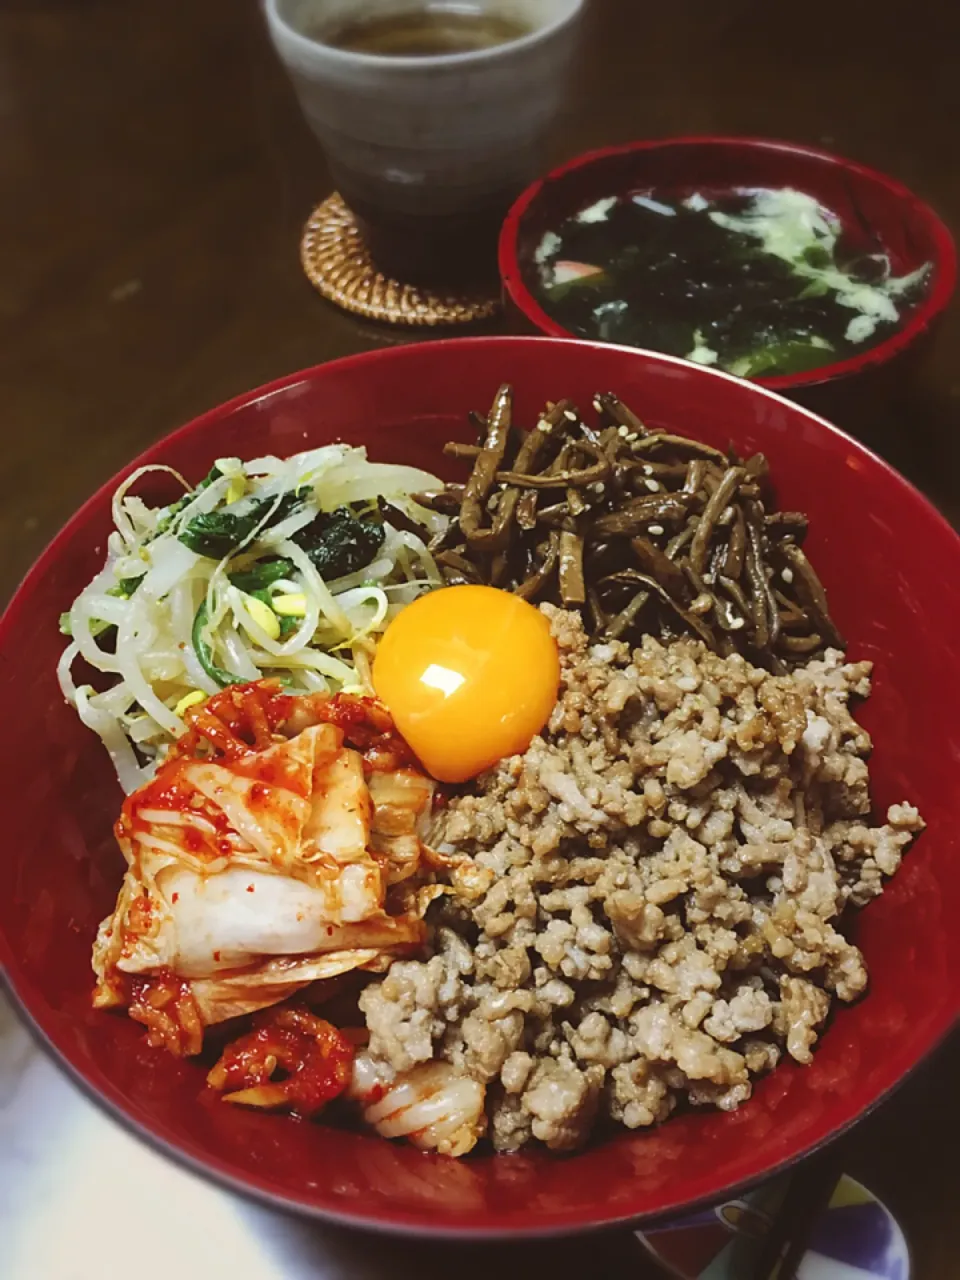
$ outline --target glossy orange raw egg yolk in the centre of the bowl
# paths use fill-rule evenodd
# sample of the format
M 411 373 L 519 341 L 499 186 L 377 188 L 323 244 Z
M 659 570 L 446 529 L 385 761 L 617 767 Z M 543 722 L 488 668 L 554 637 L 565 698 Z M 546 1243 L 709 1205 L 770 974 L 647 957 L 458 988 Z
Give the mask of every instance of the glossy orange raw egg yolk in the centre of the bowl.
M 374 658 L 374 689 L 424 767 L 466 782 L 525 751 L 559 687 L 547 618 L 494 586 L 445 586 L 398 613 Z

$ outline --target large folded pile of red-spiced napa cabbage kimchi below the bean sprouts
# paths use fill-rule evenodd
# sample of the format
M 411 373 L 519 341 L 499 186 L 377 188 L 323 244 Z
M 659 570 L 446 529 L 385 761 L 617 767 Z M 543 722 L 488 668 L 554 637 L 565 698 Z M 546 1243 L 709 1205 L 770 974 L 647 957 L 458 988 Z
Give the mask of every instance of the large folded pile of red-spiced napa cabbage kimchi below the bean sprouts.
M 257 681 L 187 722 L 124 801 L 127 873 L 93 948 L 95 1004 L 178 1055 L 311 983 L 385 969 L 440 892 L 421 876 L 434 783 L 372 699 Z

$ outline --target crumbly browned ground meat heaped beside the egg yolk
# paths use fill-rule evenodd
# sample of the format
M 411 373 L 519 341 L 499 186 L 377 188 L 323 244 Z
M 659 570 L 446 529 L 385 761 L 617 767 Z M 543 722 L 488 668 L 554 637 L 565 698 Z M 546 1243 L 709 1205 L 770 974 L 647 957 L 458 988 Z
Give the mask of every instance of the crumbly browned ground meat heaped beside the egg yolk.
M 550 721 L 439 812 L 434 845 L 466 860 L 434 954 L 361 998 L 374 1060 L 486 1087 L 500 1151 L 735 1110 L 783 1052 L 809 1062 L 831 997 L 867 988 L 841 916 L 923 827 L 909 804 L 869 824 L 869 663 L 772 676 L 692 640 L 590 646 L 544 612 Z

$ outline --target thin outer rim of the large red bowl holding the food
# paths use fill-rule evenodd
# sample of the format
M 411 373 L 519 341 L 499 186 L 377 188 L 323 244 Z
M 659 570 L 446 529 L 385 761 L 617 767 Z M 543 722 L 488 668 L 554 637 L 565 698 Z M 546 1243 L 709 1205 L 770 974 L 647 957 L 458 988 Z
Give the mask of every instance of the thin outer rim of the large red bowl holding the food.
M 237 410 L 244 408 L 247 406 L 257 404 L 270 397 L 285 392 L 292 387 L 301 383 L 312 380 L 317 376 L 323 376 L 323 371 L 330 365 L 338 366 L 338 369 L 358 367 L 371 369 L 375 367 L 379 361 L 393 361 L 404 360 L 406 352 L 417 349 L 421 347 L 429 348 L 429 353 L 435 353 L 443 358 L 443 352 L 447 348 L 467 347 L 476 349 L 479 346 L 493 347 L 515 347 L 527 346 L 527 344 L 541 344 L 559 343 L 563 347 L 588 347 L 594 348 L 598 352 L 617 351 L 626 357 L 635 357 L 637 355 L 649 360 L 653 358 L 657 362 L 666 365 L 673 365 L 682 370 L 694 369 L 694 376 L 698 378 L 714 378 L 723 379 L 726 381 L 736 383 L 739 387 L 749 387 L 751 396 L 759 396 L 765 399 L 772 399 L 774 403 L 781 404 L 783 408 L 803 415 L 808 422 L 814 425 L 817 430 L 826 431 L 828 435 L 840 436 L 847 448 L 851 448 L 865 456 L 870 462 L 878 466 L 883 472 L 886 472 L 887 480 L 896 485 L 905 495 L 909 498 L 914 506 L 919 506 L 925 511 L 928 518 L 932 517 L 934 525 L 940 526 L 941 531 L 947 534 L 954 540 L 960 540 L 960 534 L 951 526 L 946 517 L 931 503 L 915 485 L 913 485 L 906 476 L 899 472 L 893 466 L 891 466 L 884 458 L 874 453 L 860 440 L 850 436 L 846 431 L 842 431 L 838 426 L 823 419 L 820 415 L 806 408 L 803 404 L 797 404 L 783 396 L 777 394 L 767 387 L 759 383 L 750 383 L 746 379 L 736 378 L 733 374 L 727 374 L 718 369 L 709 369 L 704 366 L 691 365 L 690 361 L 684 360 L 680 356 L 669 356 L 664 352 L 649 352 L 643 351 L 636 347 L 622 347 L 613 343 L 590 342 L 586 339 L 564 337 L 562 339 L 549 338 L 543 334 L 539 335 L 509 335 L 509 334 L 494 334 L 494 335 L 474 335 L 462 338 L 443 338 L 435 339 L 433 342 L 425 343 L 411 343 L 399 347 L 380 347 L 372 351 L 358 352 L 352 356 L 344 356 L 333 361 L 324 361 L 317 365 L 311 365 L 307 369 L 298 370 L 293 374 L 287 374 L 282 378 L 273 379 L 269 383 L 264 383 L 260 387 L 252 388 L 251 390 L 243 392 L 238 396 L 232 397 L 223 403 L 206 410 L 204 413 L 197 415 L 197 417 L 191 419 L 182 426 L 175 428 L 173 431 L 161 435 L 159 439 L 152 440 L 145 449 L 132 458 L 125 466 L 123 466 L 114 476 L 108 479 L 102 485 L 100 485 L 86 502 L 78 507 L 78 509 L 70 516 L 70 518 L 61 526 L 61 529 L 51 538 L 47 545 L 37 557 L 36 562 L 27 571 L 17 590 L 10 596 L 6 607 L 0 614 L 0 652 L 3 650 L 5 643 L 8 641 L 12 631 L 15 630 L 15 613 L 18 612 L 22 602 L 26 600 L 28 594 L 33 590 L 35 584 L 44 577 L 47 572 L 49 566 L 51 566 L 59 557 L 60 549 L 69 543 L 78 532 L 79 526 L 84 522 L 88 513 L 97 506 L 100 506 L 105 499 L 109 500 L 118 483 L 131 475 L 137 467 L 142 466 L 146 461 L 155 461 L 155 454 L 166 448 L 172 440 L 179 440 L 187 435 L 200 434 L 205 428 L 216 422 L 221 419 L 229 417 Z M 28 978 L 23 974 L 19 975 L 20 980 L 14 979 L 14 970 L 19 969 L 20 965 L 10 947 L 5 934 L 0 932 L 0 991 L 5 992 L 10 1000 L 12 1006 L 19 1015 L 20 1020 L 26 1024 L 28 1030 L 32 1033 L 36 1042 L 44 1048 L 50 1057 L 58 1064 L 58 1066 L 65 1073 L 68 1079 L 77 1084 L 81 1092 L 90 1098 L 102 1112 L 105 1112 L 110 1119 L 118 1121 L 122 1128 L 128 1133 L 136 1135 L 140 1140 L 145 1142 L 147 1147 L 159 1152 L 163 1156 L 173 1160 L 180 1167 L 186 1169 L 188 1172 L 197 1174 L 200 1176 L 207 1178 L 219 1187 L 242 1196 L 246 1199 L 268 1204 L 271 1208 L 283 1212 L 294 1212 L 300 1216 L 312 1219 L 315 1221 L 330 1222 L 338 1226 L 360 1228 L 364 1230 L 376 1231 L 378 1234 L 406 1236 L 406 1238 L 421 1238 L 421 1239 L 436 1239 L 436 1240 L 526 1240 L 526 1239 L 548 1239 L 558 1238 L 573 1234 L 586 1234 L 589 1231 L 603 1230 L 608 1228 L 628 1228 L 640 1225 L 653 1225 L 657 1222 L 666 1222 L 675 1220 L 678 1216 L 684 1216 L 698 1210 L 708 1208 L 712 1204 L 719 1203 L 724 1198 L 731 1198 L 737 1194 L 742 1194 L 750 1188 L 767 1181 L 771 1178 L 783 1174 L 792 1169 L 801 1160 L 822 1149 L 828 1143 L 835 1142 L 838 1137 L 851 1130 L 868 1115 L 873 1114 L 882 1103 L 891 1098 L 906 1080 L 913 1078 L 915 1073 L 927 1064 L 936 1052 L 942 1047 L 946 1039 L 956 1030 L 960 1025 L 960 1000 L 956 1001 L 956 1007 L 954 1009 L 952 1018 L 943 1018 L 941 1024 L 933 1028 L 933 1033 L 928 1036 L 924 1044 L 913 1062 L 913 1065 L 902 1073 L 896 1080 L 893 1080 L 886 1089 L 881 1091 L 874 1098 L 872 1098 L 863 1108 L 858 1110 L 855 1114 L 850 1115 L 846 1120 L 836 1124 L 827 1133 L 822 1134 L 819 1138 L 809 1142 L 805 1146 L 799 1147 L 792 1155 L 786 1156 L 780 1162 L 771 1165 L 764 1169 L 763 1172 L 748 1175 L 726 1184 L 717 1189 L 716 1193 L 708 1193 L 700 1196 L 695 1199 L 682 1201 L 673 1208 L 658 1210 L 654 1212 L 622 1212 L 611 1213 L 607 1216 L 598 1216 L 595 1212 L 586 1213 L 573 1213 L 564 1211 L 562 1220 L 554 1220 L 548 1222 L 540 1222 L 531 1226 L 472 1226 L 472 1225 L 430 1225 L 425 1226 L 422 1221 L 422 1215 L 415 1211 L 398 1211 L 394 1215 L 384 1213 L 365 1213 L 365 1212 L 349 1212 L 339 1211 L 333 1208 L 321 1207 L 316 1203 L 311 1203 L 307 1199 L 296 1198 L 291 1194 L 282 1194 L 271 1189 L 260 1175 L 251 1170 L 244 1172 L 241 1178 L 229 1166 L 229 1164 L 219 1156 L 205 1155 L 202 1158 L 193 1152 L 182 1147 L 178 1142 L 172 1140 L 156 1128 L 154 1128 L 147 1120 L 134 1115 L 133 1108 L 127 1103 L 122 1091 L 113 1084 L 113 1082 L 106 1080 L 105 1084 L 95 1083 L 88 1074 L 73 1061 L 72 1053 L 68 1047 L 68 1036 L 63 1030 L 56 1014 L 51 1010 L 49 1015 L 35 1011 L 31 1007 L 31 1002 L 27 996 L 27 991 L 32 986 Z M 384 1139 L 385 1140 L 385 1139 Z

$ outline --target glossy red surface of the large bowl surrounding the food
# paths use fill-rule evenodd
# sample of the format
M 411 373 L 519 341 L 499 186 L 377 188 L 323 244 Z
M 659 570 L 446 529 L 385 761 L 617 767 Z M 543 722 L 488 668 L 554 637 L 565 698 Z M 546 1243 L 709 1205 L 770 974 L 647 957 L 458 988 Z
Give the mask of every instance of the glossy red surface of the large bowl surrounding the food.
M 502 380 L 518 421 L 544 401 L 616 389 L 655 426 L 762 449 L 780 500 L 810 515 L 809 549 L 851 653 L 877 664 L 863 719 L 876 801 L 910 799 L 929 828 L 856 925 L 867 998 L 841 1010 L 810 1068 L 785 1065 L 735 1115 L 691 1112 L 581 1155 L 424 1156 L 323 1124 L 234 1110 L 197 1062 L 90 1009 L 90 950 L 113 908 L 120 794 L 54 675 L 58 614 L 104 556 L 115 481 L 74 516 L 0 622 L 8 746 L 0 961 L 60 1061 L 142 1137 L 233 1188 L 301 1212 L 424 1234 L 571 1231 L 717 1199 L 796 1160 L 873 1107 L 941 1041 L 960 1001 L 960 540 L 860 444 L 750 383 L 684 361 L 544 338 L 475 338 L 372 352 L 251 392 L 137 460 L 201 477 L 224 454 L 288 454 L 335 439 L 372 458 L 443 468 L 444 440 Z

